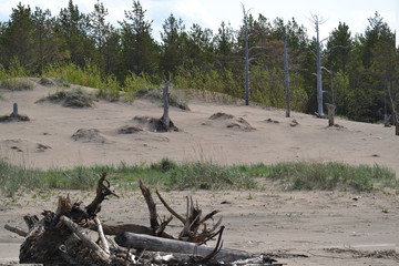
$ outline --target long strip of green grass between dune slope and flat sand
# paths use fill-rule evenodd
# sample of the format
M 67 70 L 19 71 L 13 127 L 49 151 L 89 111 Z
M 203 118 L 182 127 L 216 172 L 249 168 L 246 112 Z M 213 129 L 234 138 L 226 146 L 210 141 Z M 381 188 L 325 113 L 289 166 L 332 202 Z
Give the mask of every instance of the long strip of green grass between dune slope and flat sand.
M 63 175 L 65 172 L 71 180 Z M 378 165 L 350 166 L 341 163 L 278 163 L 225 166 L 209 162 L 176 163 L 168 158 L 152 164 L 96 165 L 70 170 L 28 170 L 0 160 L 3 195 L 28 190 L 93 190 L 102 172 L 109 173 L 114 190 L 137 190 L 139 180 L 161 190 L 263 190 L 262 180 L 280 184 L 282 190 L 399 191 L 392 171 Z

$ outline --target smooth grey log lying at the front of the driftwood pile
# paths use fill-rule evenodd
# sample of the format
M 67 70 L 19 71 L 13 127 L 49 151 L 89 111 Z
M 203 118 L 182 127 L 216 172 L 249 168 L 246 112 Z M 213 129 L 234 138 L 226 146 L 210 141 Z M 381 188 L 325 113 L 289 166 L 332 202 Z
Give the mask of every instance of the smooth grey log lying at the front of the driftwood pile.
M 166 239 L 155 236 L 140 235 L 134 233 L 124 233 L 115 236 L 117 245 L 123 247 L 131 247 L 135 249 L 145 249 L 152 252 L 166 252 L 166 253 L 180 253 L 191 254 L 206 257 L 214 252 L 214 247 L 198 246 L 193 243 Z M 228 263 L 237 259 L 248 258 L 249 254 L 244 250 L 236 249 L 221 249 L 215 259 Z

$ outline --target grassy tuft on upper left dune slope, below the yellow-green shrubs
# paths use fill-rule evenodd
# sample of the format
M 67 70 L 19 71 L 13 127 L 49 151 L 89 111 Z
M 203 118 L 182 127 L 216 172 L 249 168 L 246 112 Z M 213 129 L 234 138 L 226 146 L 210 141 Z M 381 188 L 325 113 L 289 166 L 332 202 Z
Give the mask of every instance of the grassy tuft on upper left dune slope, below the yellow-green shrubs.
M 82 88 L 71 90 L 58 90 L 40 101 L 50 100 L 52 102 L 63 102 L 65 108 L 91 108 L 94 104 L 95 96 Z

